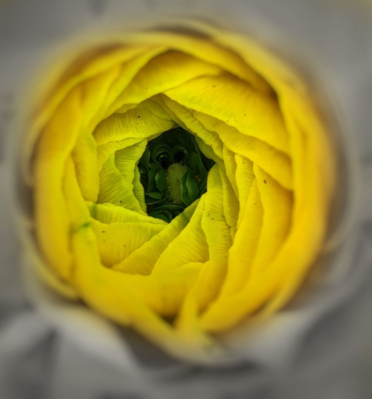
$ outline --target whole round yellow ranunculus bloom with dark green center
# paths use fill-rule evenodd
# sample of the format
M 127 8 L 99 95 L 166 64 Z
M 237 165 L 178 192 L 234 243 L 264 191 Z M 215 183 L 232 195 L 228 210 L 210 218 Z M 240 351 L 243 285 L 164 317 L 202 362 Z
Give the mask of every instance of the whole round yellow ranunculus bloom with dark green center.
M 178 356 L 288 302 L 334 186 L 301 77 L 199 29 L 84 51 L 35 107 L 23 156 L 40 275 Z

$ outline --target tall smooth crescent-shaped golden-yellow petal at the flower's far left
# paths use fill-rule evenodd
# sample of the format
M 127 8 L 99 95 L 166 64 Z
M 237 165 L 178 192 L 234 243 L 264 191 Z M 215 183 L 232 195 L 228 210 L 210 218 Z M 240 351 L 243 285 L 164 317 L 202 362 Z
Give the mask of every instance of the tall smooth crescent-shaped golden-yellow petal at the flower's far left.
M 70 273 L 71 253 L 68 241 L 70 221 L 62 182 L 66 161 L 79 134 L 82 115 L 80 99 L 80 88 L 77 88 L 56 109 L 40 134 L 34 166 L 38 243 L 46 261 L 64 278 Z M 68 128 L 66 120 L 69 122 Z

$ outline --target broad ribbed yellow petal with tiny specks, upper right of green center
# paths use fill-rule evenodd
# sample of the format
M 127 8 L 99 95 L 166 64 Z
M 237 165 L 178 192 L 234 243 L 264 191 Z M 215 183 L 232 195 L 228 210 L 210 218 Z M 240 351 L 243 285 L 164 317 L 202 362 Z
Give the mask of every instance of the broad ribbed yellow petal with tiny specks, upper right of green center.
M 184 107 L 220 119 L 242 134 L 288 154 L 288 134 L 275 99 L 254 91 L 248 83 L 232 75 L 198 77 L 164 94 Z

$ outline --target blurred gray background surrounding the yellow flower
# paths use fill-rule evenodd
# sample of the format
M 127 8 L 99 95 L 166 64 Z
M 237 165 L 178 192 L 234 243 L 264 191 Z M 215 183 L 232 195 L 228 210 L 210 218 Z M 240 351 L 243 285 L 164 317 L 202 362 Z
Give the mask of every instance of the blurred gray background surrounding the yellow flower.
M 175 16 L 206 18 L 268 39 L 276 36 L 300 59 L 306 57 L 307 66 L 327 82 L 342 128 L 355 146 L 362 191 L 352 230 L 351 273 L 343 282 L 352 289 L 308 328 L 282 367 L 252 359 L 219 369 L 180 367 L 160 355 L 161 361 L 152 362 L 156 349 L 149 357 L 141 351 L 145 344 L 140 338 L 127 332 L 140 369 L 129 373 L 64 334 L 36 309 L 24 288 L 10 210 L 9 142 L 30 71 L 48 60 L 54 46 L 82 32 L 133 28 Z M 0 0 L 0 397 L 372 397 L 371 110 L 372 3 L 367 0 Z

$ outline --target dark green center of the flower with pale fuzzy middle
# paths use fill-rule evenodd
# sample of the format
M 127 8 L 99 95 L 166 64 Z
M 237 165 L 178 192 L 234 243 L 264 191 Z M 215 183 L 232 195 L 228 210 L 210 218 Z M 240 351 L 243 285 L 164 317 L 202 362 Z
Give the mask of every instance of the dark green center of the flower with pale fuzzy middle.
M 170 222 L 206 192 L 213 165 L 195 137 L 180 127 L 149 141 L 138 162 L 147 213 Z

